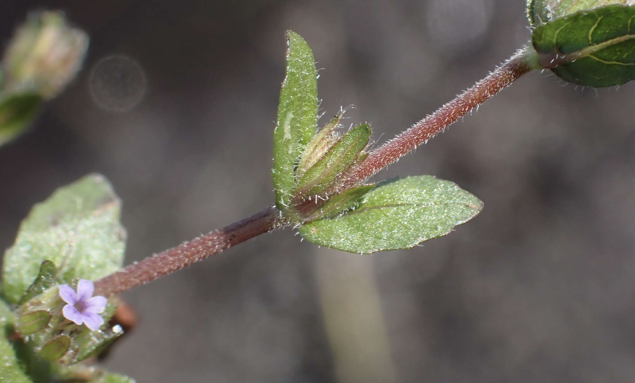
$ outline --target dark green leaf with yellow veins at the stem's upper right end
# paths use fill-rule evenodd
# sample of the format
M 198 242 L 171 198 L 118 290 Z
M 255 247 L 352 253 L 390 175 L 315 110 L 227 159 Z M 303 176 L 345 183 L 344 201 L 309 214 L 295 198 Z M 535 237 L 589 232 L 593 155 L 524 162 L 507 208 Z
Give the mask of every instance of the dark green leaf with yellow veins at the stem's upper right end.
M 566 55 L 552 71 L 570 83 L 599 88 L 635 79 L 635 8 L 611 5 L 580 11 L 537 27 L 538 53 Z

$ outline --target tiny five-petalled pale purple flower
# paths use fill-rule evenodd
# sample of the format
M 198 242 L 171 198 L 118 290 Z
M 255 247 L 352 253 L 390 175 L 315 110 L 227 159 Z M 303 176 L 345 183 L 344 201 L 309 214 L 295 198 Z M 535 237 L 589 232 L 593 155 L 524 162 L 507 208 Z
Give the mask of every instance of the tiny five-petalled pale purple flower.
M 98 330 L 104 324 L 104 318 L 99 314 L 106 309 L 107 300 L 100 295 L 92 297 L 94 290 L 93 283 L 86 279 L 77 282 L 77 293 L 69 285 L 60 285 L 60 297 L 67 303 L 62 308 L 64 318 L 77 325 L 84 323 L 91 330 Z

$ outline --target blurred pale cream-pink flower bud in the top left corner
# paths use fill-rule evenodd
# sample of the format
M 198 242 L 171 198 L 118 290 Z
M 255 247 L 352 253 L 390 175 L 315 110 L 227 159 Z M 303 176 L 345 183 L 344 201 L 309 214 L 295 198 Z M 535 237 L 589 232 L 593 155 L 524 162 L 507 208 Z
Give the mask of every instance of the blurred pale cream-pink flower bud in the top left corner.
M 75 76 L 88 35 L 67 24 L 60 11 L 32 13 L 4 54 L 4 88 L 55 97 Z

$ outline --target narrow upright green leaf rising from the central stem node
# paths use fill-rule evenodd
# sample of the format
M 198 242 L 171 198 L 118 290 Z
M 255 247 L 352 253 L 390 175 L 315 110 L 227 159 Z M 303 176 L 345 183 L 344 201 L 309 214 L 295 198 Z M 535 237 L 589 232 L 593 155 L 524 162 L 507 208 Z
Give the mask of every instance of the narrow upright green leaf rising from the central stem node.
M 313 53 L 302 36 L 286 32 L 286 77 L 274 130 L 274 167 L 271 176 L 276 205 L 286 210 L 295 189 L 295 167 L 318 124 L 318 72 Z

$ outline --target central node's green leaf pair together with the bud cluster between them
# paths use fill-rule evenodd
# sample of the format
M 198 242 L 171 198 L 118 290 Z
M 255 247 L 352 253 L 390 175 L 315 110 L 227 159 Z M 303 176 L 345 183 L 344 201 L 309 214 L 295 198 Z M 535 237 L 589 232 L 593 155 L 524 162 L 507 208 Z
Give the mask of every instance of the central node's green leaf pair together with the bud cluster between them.
M 277 208 L 305 239 L 352 253 L 411 248 L 448 234 L 481 211 L 478 198 L 432 176 L 344 188 L 368 157 L 370 127 L 361 124 L 340 137 L 340 111 L 316 133 L 313 54 L 297 33 L 288 31 L 286 40 L 272 178 Z

